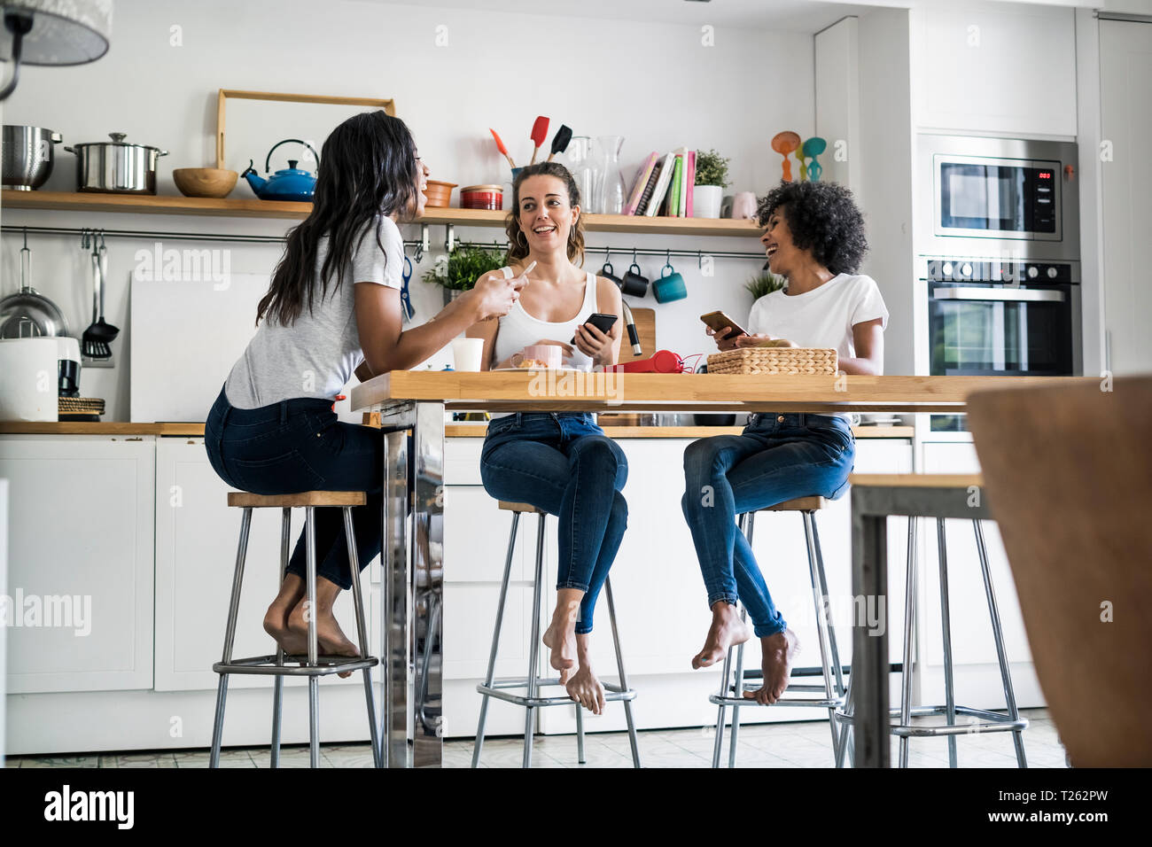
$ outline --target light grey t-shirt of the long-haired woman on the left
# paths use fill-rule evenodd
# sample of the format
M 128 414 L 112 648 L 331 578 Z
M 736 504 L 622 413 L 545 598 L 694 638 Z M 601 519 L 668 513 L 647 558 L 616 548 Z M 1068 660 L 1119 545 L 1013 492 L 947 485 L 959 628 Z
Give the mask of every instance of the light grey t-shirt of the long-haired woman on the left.
M 377 221 L 380 222 L 382 251 L 376 243 Z M 327 237 L 323 237 L 316 257 L 312 312 L 305 302 L 291 326 L 265 318 L 248 342 L 244 355 L 233 365 L 225 383 L 225 395 L 237 409 L 257 409 L 295 398 L 334 399 L 364 357 L 356 326 L 355 283 L 402 287 L 404 241 L 395 222 L 379 215 L 353 254 L 340 288 L 333 294 L 336 283 L 333 275 L 328 280 L 328 294 L 320 302 L 319 273 L 327 247 Z

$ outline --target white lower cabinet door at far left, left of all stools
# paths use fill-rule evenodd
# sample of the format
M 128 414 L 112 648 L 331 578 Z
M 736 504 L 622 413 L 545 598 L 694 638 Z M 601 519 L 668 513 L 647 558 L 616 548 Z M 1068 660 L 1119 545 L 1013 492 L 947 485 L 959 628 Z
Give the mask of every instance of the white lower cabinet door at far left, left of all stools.
M 151 436 L 5 436 L 8 694 L 152 687 Z

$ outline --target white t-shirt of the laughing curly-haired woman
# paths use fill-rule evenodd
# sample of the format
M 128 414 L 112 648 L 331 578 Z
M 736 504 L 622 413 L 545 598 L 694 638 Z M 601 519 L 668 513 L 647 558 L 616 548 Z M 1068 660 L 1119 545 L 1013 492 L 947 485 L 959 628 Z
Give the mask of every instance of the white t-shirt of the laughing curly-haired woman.
M 856 358 L 852 326 L 880 318 L 888 326 L 888 309 L 871 277 L 839 273 L 823 286 L 803 294 L 783 290 L 765 294 L 752 303 L 748 331 L 785 338 L 801 347 L 834 347 L 838 358 Z M 849 423 L 850 415 L 840 415 Z

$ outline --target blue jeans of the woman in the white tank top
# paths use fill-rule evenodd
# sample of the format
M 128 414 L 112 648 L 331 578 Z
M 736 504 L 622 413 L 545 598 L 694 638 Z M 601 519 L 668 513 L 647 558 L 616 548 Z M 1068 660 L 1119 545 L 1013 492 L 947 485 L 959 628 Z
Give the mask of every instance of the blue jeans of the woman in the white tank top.
M 558 516 L 556 588 L 584 591 L 576 632 L 591 633 L 596 598 L 628 525 L 623 451 L 586 413 L 516 413 L 488 424 L 480 478 L 498 500 Z

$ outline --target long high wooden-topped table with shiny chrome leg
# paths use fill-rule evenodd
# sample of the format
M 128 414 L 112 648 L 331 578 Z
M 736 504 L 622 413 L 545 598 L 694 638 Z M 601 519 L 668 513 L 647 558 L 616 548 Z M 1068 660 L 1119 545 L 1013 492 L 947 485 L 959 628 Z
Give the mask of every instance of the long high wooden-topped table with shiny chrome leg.
M 446 410 L 963 411 L 976 391 L 1069 379 L 401 371 L 357 386 L 353 408 L 379 413 L 388 430 L 380 625 L 382 739 L 389 766 L 438 766 L 441 761 Z M 862 573 L 854 567 L 852 592 L 866 595 Z M 864 637 L 864 630 L 854 635 Z M 861 698 L 879 698 L 879 682 L 867 682 L 861 681 Z M 882 694 L 886 702 L 887 691 Z

